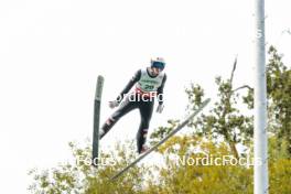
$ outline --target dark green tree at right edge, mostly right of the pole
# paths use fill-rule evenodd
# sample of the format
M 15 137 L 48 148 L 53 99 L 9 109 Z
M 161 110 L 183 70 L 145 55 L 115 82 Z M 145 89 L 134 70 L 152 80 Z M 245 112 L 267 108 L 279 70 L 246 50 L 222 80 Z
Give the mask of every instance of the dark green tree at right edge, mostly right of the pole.
M 282 63 L 282 55 L 274 46 L 269 47 L 267 65 L 268 131 L 278 138 L 278 149 L 291 158 L 291 69 Z M 254 91 L 244 97 L 254 108 Z

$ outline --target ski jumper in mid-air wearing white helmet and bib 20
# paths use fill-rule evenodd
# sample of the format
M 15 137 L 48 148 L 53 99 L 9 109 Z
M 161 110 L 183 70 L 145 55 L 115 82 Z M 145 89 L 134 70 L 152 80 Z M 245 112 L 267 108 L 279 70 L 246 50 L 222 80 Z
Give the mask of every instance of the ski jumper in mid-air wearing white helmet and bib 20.
M 164 66 L 165 62 L 162 57 L 152 58 L 151 66 L 146 69 L 139 69 L 117 99 L 109 101 L 110 108 L 118 107 L 122 103 L 100 128 L 100 139 L 122 116 L 139 108 L 141 121 L 137 133 L 138 152 L 142 153 L 148 150 L 146 139 L 155 98 L 159 103 L 157 112 L 161 114 L 163 111 L 163 87 L 166 80 L 166 75 L 163 73 Z M 132 86 L 134 86 L 133 93 L 128 94 Z

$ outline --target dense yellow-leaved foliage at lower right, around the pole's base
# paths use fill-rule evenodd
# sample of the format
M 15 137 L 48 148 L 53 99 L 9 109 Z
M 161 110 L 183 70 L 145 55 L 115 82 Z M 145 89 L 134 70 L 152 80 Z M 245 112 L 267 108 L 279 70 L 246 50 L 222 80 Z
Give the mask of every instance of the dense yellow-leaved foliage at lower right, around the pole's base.
M 276 137 L 271 142 L 276 142 Z M 193 148 L 195 148 L 193 150 Z M 173 137 L 160 149 L 165 166 L 157 168 L 158 182 L 148 186 L 148 193 L 159 194 L 251 194 L 254 193 L 252 165 L 203 165 L 202 161 L 193 163 L 176 162 L 187 159 L 201 159 L 211 155 L 213 160 L 231 155 L 231 149 L 225 142 L 215 143 L 202 137 Z M 277 148 L 269 144 L 271 153 Z M 251 155 L 250 155 L 251 157 Z M 242 157 L 240 160 L 244 159 Z M 246 160 L 245 160 L 246 161 Z M 251 160 L 250 160 L 251 161 Z M 291 192 L 291 160 L 270 154 L 269 160 L 270 194 Z M 244 163 L 242 163 L 244 164 Z M 251 163 L 250 163 L 251 164 Z

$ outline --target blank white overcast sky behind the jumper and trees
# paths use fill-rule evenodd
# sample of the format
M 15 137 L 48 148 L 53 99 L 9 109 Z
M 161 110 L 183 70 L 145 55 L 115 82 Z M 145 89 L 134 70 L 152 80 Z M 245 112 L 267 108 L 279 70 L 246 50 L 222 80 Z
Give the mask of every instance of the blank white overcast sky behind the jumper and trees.
M 290 66 L 289 8 L 266 0 L 267 46 Z M 69 160 L 68 142 L 91 137 L 97 75 L 105 76 L 103 122 L 134 72 L 165 58 L 165 109 L 150 132 L 184 117 L 190 83 L 214 97 L 215 76 L 229 77 L 236 55 L 235 85 L 252 85 L 252 14 L 251 0 L 0 1 L 1 193 L 28 193 L 30 169 Z M 134 139 L 138 126 L 138 111 L 127 115 L 103 147 Z

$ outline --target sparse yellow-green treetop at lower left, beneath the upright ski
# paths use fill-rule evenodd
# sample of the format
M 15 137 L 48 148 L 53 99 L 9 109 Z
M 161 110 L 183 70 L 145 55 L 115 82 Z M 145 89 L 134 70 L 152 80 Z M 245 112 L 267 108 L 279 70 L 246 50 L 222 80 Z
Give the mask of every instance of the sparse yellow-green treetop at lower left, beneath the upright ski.
M 89 144 L 89 143 L 88 143 Z M 144 165 L 133 166 L 126 176 L 118 181 L 110 181 L 110 176 L 119 172 L 136 158 L 133 143 L 127 142 L 122 147 L 118 143 L 116 151 L 101 153 L 103 164 L 98 171 L 89 165 L 90 146 L 78 148 L 69 143 L 75 163 L 63 163 L 48 170 L 33 169 L 30 175 L 34 182 L 29 186 L 34 194 L 133 194 L 142 193 L 143 175 L 148 174 Z M 115 160 L 112 162 L 112 159 Z M 110 163 L 112 165 L 110 165 Z

